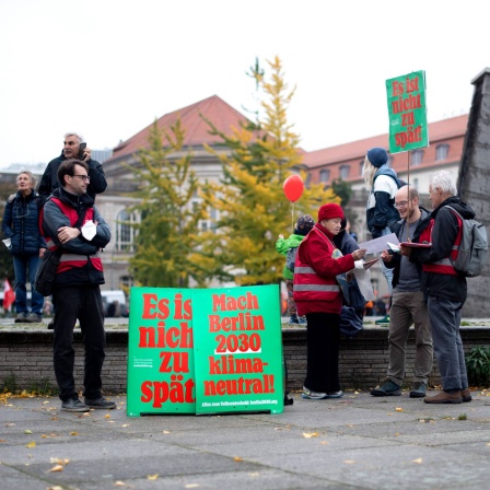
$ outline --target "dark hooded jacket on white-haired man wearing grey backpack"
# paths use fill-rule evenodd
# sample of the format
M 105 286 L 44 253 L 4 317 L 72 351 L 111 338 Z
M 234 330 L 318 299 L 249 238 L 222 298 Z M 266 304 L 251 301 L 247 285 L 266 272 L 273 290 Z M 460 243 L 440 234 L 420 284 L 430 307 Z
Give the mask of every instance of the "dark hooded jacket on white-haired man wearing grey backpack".
M 441 268 L 441 260 L 447 260 L 451 254 L 454 254 L 454 245 L 460 234 L 456 214 L 445 206 L 456 209 L 463 218 L 475 218 L 475 211 L 462 202 L 457 196 L 441 202 L 431 213 L 432 232 L 430 231 L 431 224 L 429 224 L 425 228 L 425 235 L 423 235 L 430 237 L 431 248 L 412 248 L 410 261 L 422 264 L 422 289 L 425 294 L 444 300 L 466 301 L 466 278 L 458 273 L 447 273 L 446 267 Z M 439 266 L 438 264 L 433 266 L 435 262 L 439 262 Z

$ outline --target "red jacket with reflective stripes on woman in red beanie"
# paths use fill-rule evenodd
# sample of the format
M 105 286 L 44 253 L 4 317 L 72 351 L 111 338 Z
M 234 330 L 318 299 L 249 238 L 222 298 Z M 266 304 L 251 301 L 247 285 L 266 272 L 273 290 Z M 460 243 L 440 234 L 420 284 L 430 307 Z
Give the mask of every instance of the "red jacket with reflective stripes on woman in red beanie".
M 319 223 L 305 236 L 298 248 L 294 267 L 293 298 L 298 314 L 337 313 L 342 307 L 342 295 L 336 276 L 354 268 L 352 255 L 337 259 L 331 233 Z

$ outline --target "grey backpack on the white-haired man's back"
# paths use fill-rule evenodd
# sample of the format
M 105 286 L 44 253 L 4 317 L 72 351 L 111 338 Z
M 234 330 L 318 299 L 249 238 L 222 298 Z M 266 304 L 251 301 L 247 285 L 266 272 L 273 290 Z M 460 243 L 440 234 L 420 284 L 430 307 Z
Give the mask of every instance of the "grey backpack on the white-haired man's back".
M 453 207 L 450 208 L 463 222 L 462 243 L 456 260 L 451 260 L 453 267 L 466 278 L 480 276 L 488 255 L 487 230 L 477 220 L 464 219 Z

